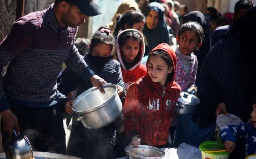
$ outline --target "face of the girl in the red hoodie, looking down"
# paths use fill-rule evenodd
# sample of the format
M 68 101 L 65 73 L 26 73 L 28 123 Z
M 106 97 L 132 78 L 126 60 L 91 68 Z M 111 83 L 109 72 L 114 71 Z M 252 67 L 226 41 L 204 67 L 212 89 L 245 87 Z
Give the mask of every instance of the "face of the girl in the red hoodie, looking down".
M 159 56 L 150 56 L 147 71 L 153 82 L 159 82 L 164 86 L 167 75 L 171 73 L 173 67 L 167 66 L 166 62 Z

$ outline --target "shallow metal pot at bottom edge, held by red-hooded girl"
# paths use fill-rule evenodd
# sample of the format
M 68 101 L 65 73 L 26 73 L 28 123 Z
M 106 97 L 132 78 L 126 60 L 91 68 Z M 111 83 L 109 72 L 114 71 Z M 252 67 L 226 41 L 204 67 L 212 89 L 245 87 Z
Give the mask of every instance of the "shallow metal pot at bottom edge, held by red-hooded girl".
M 139 145 L 139 148 L 135 148 L 133 145 L 125 147 L 126 159 L 158 159 L 164 158 L 165 152 L 162 149 Z

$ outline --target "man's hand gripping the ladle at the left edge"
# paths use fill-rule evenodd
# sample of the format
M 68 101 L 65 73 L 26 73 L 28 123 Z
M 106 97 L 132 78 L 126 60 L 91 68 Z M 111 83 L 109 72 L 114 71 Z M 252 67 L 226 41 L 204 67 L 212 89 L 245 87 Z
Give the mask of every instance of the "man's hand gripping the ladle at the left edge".
M 19 123 L 17 117 L 11 110 L 2 111 L 3 130 L 12 137 L 13 129 L 16 130 L 17 134 L 20 134 Z

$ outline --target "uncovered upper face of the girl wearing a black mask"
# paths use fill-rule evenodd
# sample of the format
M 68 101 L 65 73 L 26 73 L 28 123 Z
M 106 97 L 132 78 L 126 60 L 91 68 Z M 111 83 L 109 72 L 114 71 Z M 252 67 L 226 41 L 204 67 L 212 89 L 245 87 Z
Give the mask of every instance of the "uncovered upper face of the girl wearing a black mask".
M 111 46 L 108 44 L 97 44 L 91 51 L 93 56 L 109 57 L 111 54 Z

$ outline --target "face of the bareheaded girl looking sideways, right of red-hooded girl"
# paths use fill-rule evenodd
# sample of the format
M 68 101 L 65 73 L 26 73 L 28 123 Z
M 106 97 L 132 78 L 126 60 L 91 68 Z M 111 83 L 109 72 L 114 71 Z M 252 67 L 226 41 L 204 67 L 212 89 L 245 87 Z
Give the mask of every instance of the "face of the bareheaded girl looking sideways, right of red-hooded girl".
M 191 53 L 198 47 L 198 37 L 194 31 L 184 31 L 178 37 L 179 49 L 182 54 L 191 55 Z

